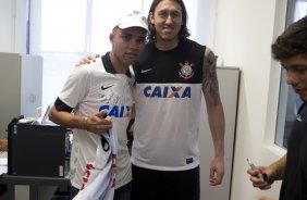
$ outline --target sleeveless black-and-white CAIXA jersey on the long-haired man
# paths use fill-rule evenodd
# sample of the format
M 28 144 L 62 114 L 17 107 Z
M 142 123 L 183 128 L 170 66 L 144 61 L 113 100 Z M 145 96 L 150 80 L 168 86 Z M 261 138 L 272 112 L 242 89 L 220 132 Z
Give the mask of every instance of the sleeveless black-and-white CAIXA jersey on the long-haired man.
M 133 164 L 159 171 L 199 165 L 204 55 L 205 47 L 188 39 L 169 51 L 146 46 L 135 65 Z

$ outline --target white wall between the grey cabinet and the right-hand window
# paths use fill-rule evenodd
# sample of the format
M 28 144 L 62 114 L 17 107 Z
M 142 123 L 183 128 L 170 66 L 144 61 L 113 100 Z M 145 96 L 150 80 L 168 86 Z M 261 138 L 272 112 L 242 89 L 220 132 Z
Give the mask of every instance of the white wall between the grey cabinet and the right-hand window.
M 242 70 L 232 200 L 256 200 L 260 195 L 278 199 L 279 196 L 279 184 L 269 191 L 251 186 L 246 158 L 256 164 L 270 164 L 284 153 L 267 145 L 271 145 L 274 135 L 279 89 L 272 87 L 279 83 L 279 66 L 272 64 L 270 45 L 282 32 L 285 5 L 285 0 L 218 1 L 213 49 L 220 64 Z M 277 25 L 275 11 L 280 16 Z

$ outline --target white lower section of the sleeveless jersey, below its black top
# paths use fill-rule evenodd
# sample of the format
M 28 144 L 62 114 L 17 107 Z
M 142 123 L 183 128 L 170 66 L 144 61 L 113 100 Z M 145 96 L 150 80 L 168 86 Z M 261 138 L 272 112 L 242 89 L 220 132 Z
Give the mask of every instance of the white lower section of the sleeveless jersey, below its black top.
M 138 135 L 133 143 L 134 164 L 160 171 L 184 171 L 199 165 L 200 88 L 200 84 L 136 86 Z

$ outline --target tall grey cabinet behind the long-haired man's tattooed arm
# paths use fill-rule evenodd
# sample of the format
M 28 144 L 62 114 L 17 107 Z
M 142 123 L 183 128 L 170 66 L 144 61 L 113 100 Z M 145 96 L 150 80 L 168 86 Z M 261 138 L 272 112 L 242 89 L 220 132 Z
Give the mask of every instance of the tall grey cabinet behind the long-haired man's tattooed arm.
M 218 78 L 220 96 L 225 114 L 225 175 L 220 186 L 209 185 L 210 162 L 213 157 L 213 143 L 209 129 L 205 100 L 201 103 L 201 117 L 199 127 L 199 151 L 200 151 L 200 200 L 226 200 L 230 199 L 233 149 L 235 141 L 235 124 L 237 113 L 237 95 L 240 70 L 231 67 L 219 67 Z M 206 123 L 204 123 L 206 122 Z

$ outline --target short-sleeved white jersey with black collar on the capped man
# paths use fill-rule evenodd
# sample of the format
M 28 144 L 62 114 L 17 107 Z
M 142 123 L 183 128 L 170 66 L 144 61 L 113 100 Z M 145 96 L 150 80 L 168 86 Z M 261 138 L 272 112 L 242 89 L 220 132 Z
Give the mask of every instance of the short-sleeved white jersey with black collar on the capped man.
M 107 67 L 114 70 L 108 54 L 103 59 L 103 64 L 99 58 L 91 64 L 76 67 L 59 99 L 74 108 L 77 115 L 87 116 L 106 111 L 112 117 L 113 126 L 119 133 L 115 186 L 119 188 L 132 180 L 126 127 L 133 103 L 133 80 L 125 74 L 107 72 Z M 84 129 L 74 129 L 73 133 L 70 178 L 74 187 L 81 188 L 84 168 L 94 161 L 100 136 Z

